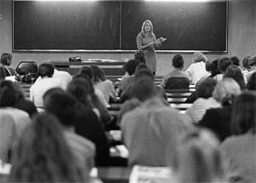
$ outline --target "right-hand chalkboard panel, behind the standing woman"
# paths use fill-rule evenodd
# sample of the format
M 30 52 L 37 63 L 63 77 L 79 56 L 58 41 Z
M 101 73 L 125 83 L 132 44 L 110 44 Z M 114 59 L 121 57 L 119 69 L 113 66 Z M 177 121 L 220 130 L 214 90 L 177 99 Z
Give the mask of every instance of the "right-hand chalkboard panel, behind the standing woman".
M 136 49 L 144 20 L 153 23 L 162 50 L 226 51 L 226 2 L 122 2 L 121 49 Z

